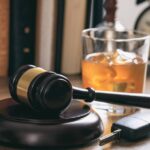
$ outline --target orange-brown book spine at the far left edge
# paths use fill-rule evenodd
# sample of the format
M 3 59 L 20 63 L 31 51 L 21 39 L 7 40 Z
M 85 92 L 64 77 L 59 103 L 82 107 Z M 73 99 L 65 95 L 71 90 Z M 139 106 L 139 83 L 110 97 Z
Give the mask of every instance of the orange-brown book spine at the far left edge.
M 8 75 L 9 0 L 0 0 L 0 76 Z

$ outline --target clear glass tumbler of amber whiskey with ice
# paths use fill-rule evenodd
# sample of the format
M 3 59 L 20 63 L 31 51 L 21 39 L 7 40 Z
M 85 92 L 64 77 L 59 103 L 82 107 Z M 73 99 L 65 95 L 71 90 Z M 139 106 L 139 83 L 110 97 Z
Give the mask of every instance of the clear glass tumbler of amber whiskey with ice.
M 142 93 L 144 91 L 150 36 L 138 31 L 82 31 L 83 87 L 95 90 Z M 111 98 L 111 97 L 110 97 Z M 108 105 L 107 105 L 108 106 Z M 134 107 L 109 105 L 111 114 L 130 114 Z

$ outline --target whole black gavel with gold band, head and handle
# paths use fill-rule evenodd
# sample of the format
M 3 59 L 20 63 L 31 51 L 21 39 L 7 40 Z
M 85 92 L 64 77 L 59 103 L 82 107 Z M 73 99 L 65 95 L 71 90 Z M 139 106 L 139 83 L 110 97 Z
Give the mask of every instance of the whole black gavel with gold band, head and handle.
M 76 99 L 150 108 L 150 95 L 73 87 L 67 77 L 33 65 L 19 68 L 10 79 L 9 89 L 15 101 L 39 112 L 60 114 Z

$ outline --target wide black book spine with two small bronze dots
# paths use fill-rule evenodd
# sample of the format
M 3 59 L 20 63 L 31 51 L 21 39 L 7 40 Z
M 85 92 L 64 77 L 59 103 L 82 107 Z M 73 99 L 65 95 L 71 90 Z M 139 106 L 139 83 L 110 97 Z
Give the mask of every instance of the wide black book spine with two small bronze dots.
M 36 0 L 10 0 L 9 75 L 35 63 Z

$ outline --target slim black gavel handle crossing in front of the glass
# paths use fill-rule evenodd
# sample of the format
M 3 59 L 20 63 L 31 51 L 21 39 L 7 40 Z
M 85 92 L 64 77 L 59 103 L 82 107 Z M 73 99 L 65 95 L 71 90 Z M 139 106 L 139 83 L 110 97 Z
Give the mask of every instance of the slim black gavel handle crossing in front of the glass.
M 73 87 L 73 98 L 84 99 L 86 102 L 95 100 L 112 104 L 150 108 L 150 95 L 147 94 L 94 91 L 91 88 Z

